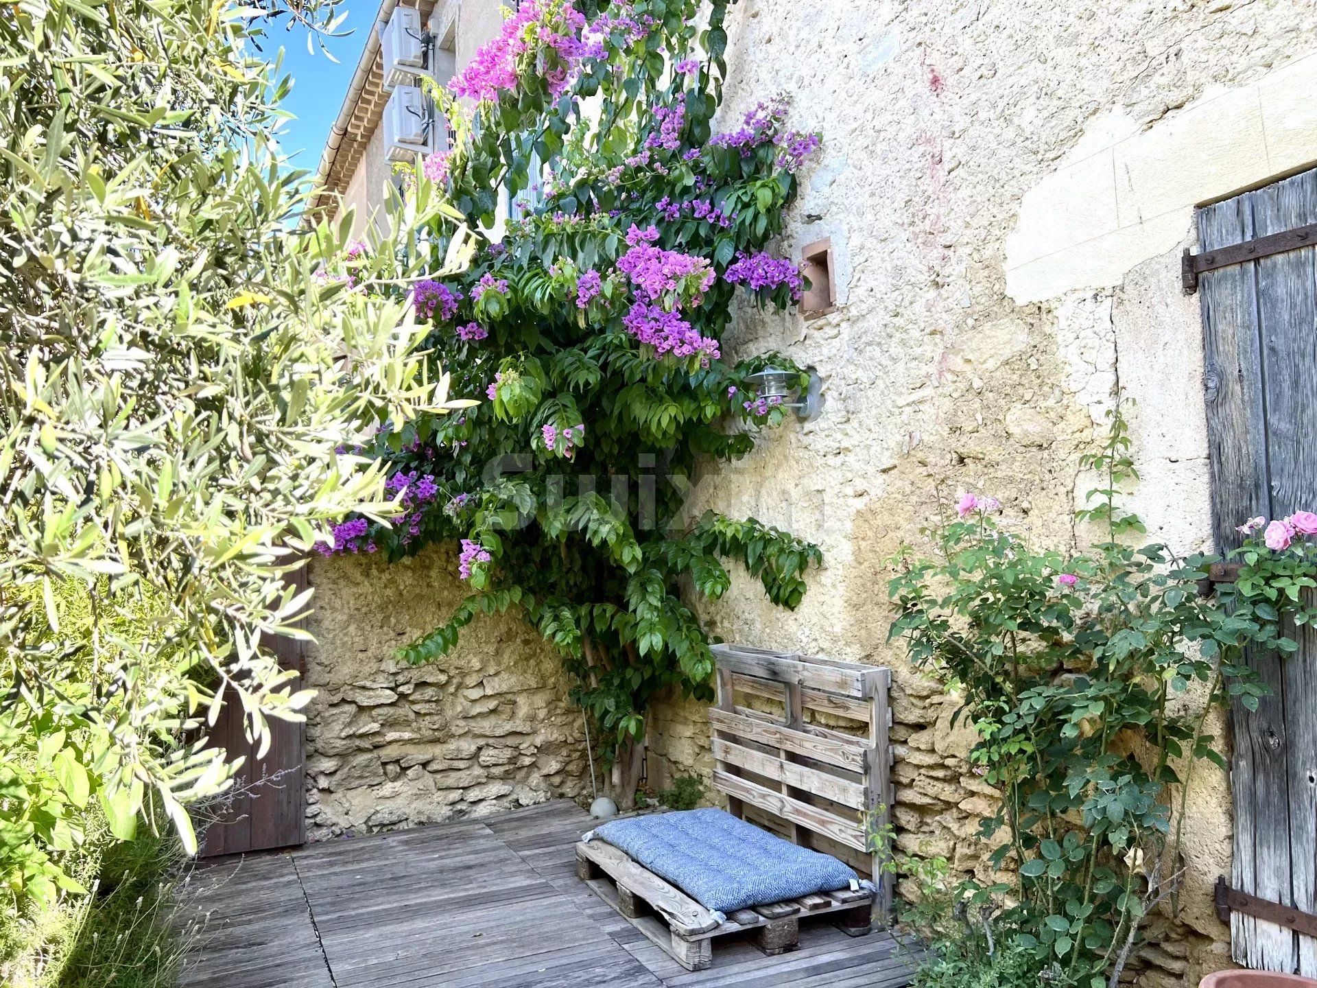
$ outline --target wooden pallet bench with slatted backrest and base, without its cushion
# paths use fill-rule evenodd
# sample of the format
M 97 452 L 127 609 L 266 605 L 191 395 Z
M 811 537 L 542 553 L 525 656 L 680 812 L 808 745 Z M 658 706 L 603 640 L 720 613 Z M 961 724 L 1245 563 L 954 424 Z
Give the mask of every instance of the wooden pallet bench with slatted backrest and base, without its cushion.
M 892 806 L 890 671 L 744 645 L 714 645 L 718 702 L 709 711 L 714 786 L 728 810 L 801 847 L 831 854 L 878 889 L 828 892 L 741 909 L 720 921 L 603 840 L 577 844 L 581 880 L 682 967 L 712 963 L 712 941 L 751 931 L 765 954 L 797 947 L 801 918 L 832 916 L 852 937 L 886 926 L 886 848 L 872 847 Z M 747 703 L 738 703 L 738 697 Z M 781 717 L 763 709 L 781 703 Z M 819 721 L 831 726 L 822 726 Z M 840 730 L 838 730 L 840 728 Z

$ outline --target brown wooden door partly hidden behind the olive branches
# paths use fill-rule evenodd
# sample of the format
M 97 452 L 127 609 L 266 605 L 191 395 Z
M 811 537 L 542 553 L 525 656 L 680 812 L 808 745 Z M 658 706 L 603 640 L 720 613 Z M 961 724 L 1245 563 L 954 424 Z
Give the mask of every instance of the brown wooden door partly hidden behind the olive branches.
M 304 590 L 307 566 L 294 570 L 288 582 Z M 306 672 L 302 642 L 275 639 L 274 652 L 284 669 Z M 270 718 L 270 748 L 258 759 L 245 721 L 241 705 L 225 703 L 211 732 L 212 746 L 224 748 L 230 757 L 245 755 L 246 761 L 233 780 L 232 796 L 219 818 L 200 838 L 202 858 L 292 847 L 307 840 L 306 725 Z

